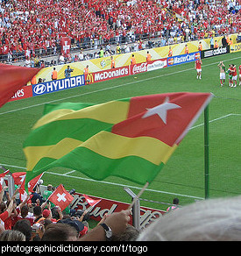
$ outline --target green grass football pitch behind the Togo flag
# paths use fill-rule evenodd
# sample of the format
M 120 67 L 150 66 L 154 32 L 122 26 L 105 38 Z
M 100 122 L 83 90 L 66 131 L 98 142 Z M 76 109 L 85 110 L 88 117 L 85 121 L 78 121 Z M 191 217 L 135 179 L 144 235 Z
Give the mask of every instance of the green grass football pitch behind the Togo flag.
M 76 89 L 36 96 L 17 102 L 6 103 L 0 109 L 0 164 L 12 172 L 25 170 L 23 142 L 32 125 L 42 116 L 45 103 L 84 102 L 103 103 L 110 100 L 191 91 L 212 92 L 215 97 L 209 105 L 210 143 L 210 197 L 236 196 L 241 194 L 240 176 L 240 119 L 241 88 L 220 87 L 219 68 L 223 60 L 226 68 L 230 63 L 241 64 L 241 53 L 230 53 L 202 60 L 202 80 L 196 79 L 195 64 L 187 63 L 172 68 L 131 75 L 108 82 L 82 86 Z M 203 114 L 194 124 L 181 145 L 167 162 L 142 198 L 172 203 L 179 197 L 181 205 L 204 197 Z M 144 149 L 145 150 L 145 149 Z M 54 168 L 43 176 L 44 184 L 64 184 L 67 189 L 93 196 L 131 202 L 123 187 L 129 186 L 138 193 L 140 186 L 117 177 L 104 181 L 92 181 L 80 172 Z M 141 205 L 166 210 L 159 203 L 141 201 Z

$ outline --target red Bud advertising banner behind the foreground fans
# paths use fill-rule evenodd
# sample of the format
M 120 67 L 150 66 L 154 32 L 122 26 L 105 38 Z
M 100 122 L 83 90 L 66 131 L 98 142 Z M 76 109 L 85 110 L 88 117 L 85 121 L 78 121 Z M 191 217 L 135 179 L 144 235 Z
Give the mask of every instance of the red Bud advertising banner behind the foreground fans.
M 71 205 L 72 209 L 77 210 L 89 210 L 90 218 L 100 221 L 105 214 L 110 215 L 114 211 L 126 210 L 129 207 L 128 203 L 122 203 L 105 199 L 101 197 L 91 196 L 95 200 L 102 199 L 95 207 L 89 205 L 85 196 L 79 193 L 74 194 L 74 200 Z M 155 210 L 152 208 L 141 207 L 140 208 L 140 228 L 144 228 L 146 225 L 151 224 L 156 218 L 161 217 L 165 211 Z M 132 219 L 131 219 L 132 223 Z

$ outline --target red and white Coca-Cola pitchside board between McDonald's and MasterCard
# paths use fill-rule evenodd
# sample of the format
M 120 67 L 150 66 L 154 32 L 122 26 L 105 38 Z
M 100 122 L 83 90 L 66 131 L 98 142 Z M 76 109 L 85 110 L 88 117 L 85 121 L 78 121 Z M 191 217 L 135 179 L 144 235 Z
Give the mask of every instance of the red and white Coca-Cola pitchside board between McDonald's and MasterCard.
M 160 68 L 167 68 L 167 58 L 160 60 L 151 60 L 131 65 L 131 75 L 136 75 L 139 73 L 144 73 L 147 71 L 152 71 Z

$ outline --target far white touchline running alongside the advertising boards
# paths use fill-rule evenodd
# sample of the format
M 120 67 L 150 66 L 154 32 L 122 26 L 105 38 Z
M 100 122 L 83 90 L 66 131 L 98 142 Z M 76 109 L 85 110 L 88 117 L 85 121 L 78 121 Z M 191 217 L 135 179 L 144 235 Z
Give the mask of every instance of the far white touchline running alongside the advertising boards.
M 240 59 L 240 58 L 241 57 L 236 57 L 236 58 L 232 58 L 230 60 L 237 60 L 237 59 Z M 228 61 L 228 60 L 225 60 L 225 61 Z M 212 66 L 212 65 L 215 65 L 215 64 L 218 64 L 218 63 L 219 63 L 219 61 L 207 64 L 207 65 L 203 65 L 202 67 L 209 67 L 209 66 Z M 135 83 L 138 83 L 138 82 L 149 81 L 149 80 L 152 80 L 152 79 L 155 79 L 155 78 L 159 78 L 159 77 L 164 77 L 164 76 L 167 76 L 167 75 L 175 75 L 175 74 L 179 74 L 179 73 L 182 73 L 182 72 L 190 71 L 190 70 L 193 70 L 193 69 L 195 69 L 195 68 L 188 68 L 188 69 L 184 69 L 184 70 L 180 70 L 180 71 L 176 71 L 176 72 L 169 73 L 169 74 L 164 74 L 164 75 L 156 75 L 156 76 L 152 76 L 152 77 L 145 78 L 145 79 L 138 80 L 138 81 L 134 81 L 134 82 L 127 82 L 127 83 L 119 84 L 119 85 L 116 85 L 116 86 L 111 86 L 109 88 L 96 89 L 96 90 L 93 90 L 93 91 L 85 92 L 85 93 L 83 93 L 81 95 L 67 96 L 65 98 L 60 98 L 60 99 L 56 99 L 56 100 L 45 102 L 45 103 L 34 104 L 34 105 L 31 105 L 31 106 L 27 106 L 27 107 L 16 109 L 16 110 L 9 110 L 9 111 L 5 111 L 5 112 L 0 113 L 0 116 L 4 115 L 4 114 L 9 114 L 9 113 L 12 113 L 12 112 L 16 112 L 16 111 L 19 111 L 19 110 L 27 110 L 27 109 L 31 109 L 31 108 L 34 108 L 34 107 L 39 107 L 39 106 L 45 105 L 47 103 L 56 103 L 56 102 L 60 102 L 60 101 L 67 100 L 67 99 L 71 99 L 71 98 L 74 98 L 74 97 L 78 97 L 78 96 L 86 96 L 86 95 L 90 95 L 90 94 L 93 94 L 93 93 L 101 92 L 101 91 L 104 91 L 104 90 L 116 89 L 116 88 L 119 88 L 119 87 L 123 87 L 123 86 L 130 85 L 130 84 L 135 84 Z

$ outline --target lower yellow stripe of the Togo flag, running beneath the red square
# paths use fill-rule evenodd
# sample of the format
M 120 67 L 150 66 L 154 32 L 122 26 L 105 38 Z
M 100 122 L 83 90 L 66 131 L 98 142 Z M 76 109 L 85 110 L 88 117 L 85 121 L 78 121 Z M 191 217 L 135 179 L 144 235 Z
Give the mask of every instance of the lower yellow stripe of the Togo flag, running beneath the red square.
M 111 132 L 99 132 L 85 142 L 77 139 L 62 139 L 53 146 L 27 146 L 24 149 L 28 159 L 27 170 L 38 163 L 41 158 L 60 159 L 76 147 L 85 147 L 89 150 L 110 159 L 121 159 L 128 156 L 137 156 L 159 165 L 167 163 L 177 145 L 168 146 L 159 139 L 151 137 L 129 138 Z

